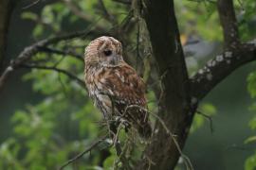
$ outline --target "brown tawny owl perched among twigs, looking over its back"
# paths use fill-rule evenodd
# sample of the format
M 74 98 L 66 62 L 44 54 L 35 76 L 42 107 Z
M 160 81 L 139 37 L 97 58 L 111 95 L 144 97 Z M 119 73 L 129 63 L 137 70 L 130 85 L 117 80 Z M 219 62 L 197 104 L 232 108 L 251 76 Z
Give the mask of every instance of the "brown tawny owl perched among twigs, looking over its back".
M 104 119 L 121 118 L 127 129 L 135 127 L 141 137 L 149 138 L 152 127 L 146 111 L 145 84 L 123 60 L 121 43 L 107 36 L 90 42 L 85 48 L 84 63 L 89 96 Z

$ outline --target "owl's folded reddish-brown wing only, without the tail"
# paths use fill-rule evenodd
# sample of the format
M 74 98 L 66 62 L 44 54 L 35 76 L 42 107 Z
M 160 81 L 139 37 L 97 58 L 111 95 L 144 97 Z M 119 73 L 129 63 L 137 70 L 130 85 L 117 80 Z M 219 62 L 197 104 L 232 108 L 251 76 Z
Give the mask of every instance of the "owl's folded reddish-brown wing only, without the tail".
M 145 84 L 128 64 L 104 69 L 98 77 L 100 91 L 112 97 L 119 112 L 130 105 L 145 108 Z

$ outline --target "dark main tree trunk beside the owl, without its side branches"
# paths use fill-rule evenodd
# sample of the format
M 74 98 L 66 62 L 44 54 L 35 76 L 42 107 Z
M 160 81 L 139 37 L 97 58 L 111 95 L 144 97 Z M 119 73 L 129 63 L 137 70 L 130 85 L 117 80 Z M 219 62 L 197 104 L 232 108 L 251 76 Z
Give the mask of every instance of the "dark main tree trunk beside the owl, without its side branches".
M 189 77 L 179 40 L 179 31 L 174 15 L 174 2 L 170 0 L 145 0 L 143 16 L 149 30 L 155 60 L 161 77 L 162 92 L 158 116 L 167 129 L 158 121 L 151 144 L 145 150 L 144 159 L 137 169 L 174 169 L 192 123 L 190 113 Z M 173 138 L 178 143 L 174 143 Z

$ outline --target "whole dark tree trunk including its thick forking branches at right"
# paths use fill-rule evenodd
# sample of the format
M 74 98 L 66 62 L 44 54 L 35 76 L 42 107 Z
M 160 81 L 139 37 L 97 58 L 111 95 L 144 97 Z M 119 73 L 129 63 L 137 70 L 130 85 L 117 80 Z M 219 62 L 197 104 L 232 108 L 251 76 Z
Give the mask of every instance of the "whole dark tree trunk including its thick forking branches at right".
M 226 51 L 188 77 L 172 0 L 142 0 L 162 90 L 151 143 L 137 169 L 174 169 L 187 140 L 198 103 L 238 67 L 256 60 L 256 44 L 240 43 L 232 0 L 218 1 Z M 156 119 L 157 120 L 157 119 Z M 162 122 L 165 127 L 163 127 Z M 169 132 L 172 132 L 173 137 Z M 174 139 L 177 144 L 174 143 Z M 189 164 L 190 165 L 190 164 Z

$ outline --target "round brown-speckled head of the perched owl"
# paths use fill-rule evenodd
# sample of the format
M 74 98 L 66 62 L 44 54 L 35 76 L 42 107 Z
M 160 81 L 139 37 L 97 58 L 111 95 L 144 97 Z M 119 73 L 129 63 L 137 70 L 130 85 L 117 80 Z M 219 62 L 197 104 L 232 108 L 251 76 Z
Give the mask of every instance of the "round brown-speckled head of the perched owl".
M 102 36 L 85 48 L 86 66 L 111 67 L 123 62 L 121 43 L 113 37 Z

